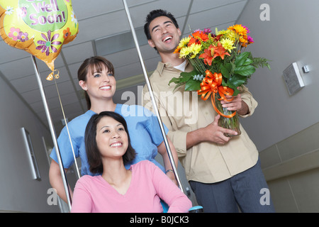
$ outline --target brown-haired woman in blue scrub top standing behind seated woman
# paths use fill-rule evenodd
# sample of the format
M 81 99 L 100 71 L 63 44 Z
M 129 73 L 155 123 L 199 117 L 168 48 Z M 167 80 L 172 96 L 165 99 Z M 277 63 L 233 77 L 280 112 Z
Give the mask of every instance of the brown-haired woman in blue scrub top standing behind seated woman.
M 86 124 L 94 114 L 99 114 L 101 111 L 114 111 L 121 114 L 128 123 L 131 143 L 137 152 L 135 160 L 128 163 L 126 167 L 129 168 L 130 165 L 141 160 L 150 160 L 161 168 L 162 171 L 166 172 L 170 179 L 176 182 L 174 173 L 172 171 L 168 171 L 172 170 L 172 165 L 169 162 L 169 157 L 167 155 L 166 146 L 159 128 L 157 117 L 142 106 L 114 104 L 113 95 L 116 92 L 116 79 L 114 77 L 114 68 L 112 63 L 104 57 L 90 57 L 84 60 L 82 65 L 79 67 L 78 79 L 79 85 L 82 89 L 84 89 L 86 94 L 88 111 L 81 116 L 74 118 L 67 124 L 69 134 L 65 127 L 62 129 L 59 138 L 57 138 L 65 171 L 67 171 L 74 163 L 72 152 L 73 146 L 75 156 L 80 157 L 82 162 L 81 174 L 93 175 L 89 171 L 89 164 L 87 162 L 84 145 Z M 164 129 L 167 133 L 168 130 L 165 126 Z M 69 135 L 72 138 L 72 146 L 69 140 Z M 169 141 L 169 147 L 172 150 L 174 162 L 177 165 L 177 152 L 169 138 L 167 138 L 167 140 Z M 162 155 L 164 167 L 155 160 L 157 152 Z M 55 149 L 52 150 L 50 157 L 52 158 L 49 174 L 50 184 L 53 188 L 57 189 L 57 194 L 64 201 L 67 201 Z

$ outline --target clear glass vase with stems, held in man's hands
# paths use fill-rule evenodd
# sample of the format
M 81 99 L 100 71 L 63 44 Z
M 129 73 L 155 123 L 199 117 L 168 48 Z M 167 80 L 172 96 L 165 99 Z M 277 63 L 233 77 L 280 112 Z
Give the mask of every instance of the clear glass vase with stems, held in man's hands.
M 216 94 L 215 104 L 216 104 L 216 108 L 220 111 L 220 113 L 223 113 L 225 116 L 229 116 L 234 113 L 234 111 L 228 111 L 227 108 L 224 108 L 218 99 L 220 99 L 220 96 L 219 94 Z M 235 114 L 235 116 L 231 118 L 226 118 L 220 115 L 218 126 L 236 131 L 237 135 L 240 135 L 242 133 L 240 131 L 240 121 L 239 121 L 239 117 L 237 113 Z M 229 133 L 224 133 L 224 135 L 227 137 L 237 136 L 237 135 L 230 135 Z

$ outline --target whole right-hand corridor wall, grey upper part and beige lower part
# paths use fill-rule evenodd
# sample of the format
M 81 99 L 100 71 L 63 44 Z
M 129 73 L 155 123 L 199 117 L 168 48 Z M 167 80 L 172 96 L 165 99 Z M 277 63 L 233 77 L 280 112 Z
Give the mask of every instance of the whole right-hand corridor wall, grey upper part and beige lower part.
M 262 4 L 269 5 L 270 21 L 260 20 Z M 260 151 L 277 212 L 318 212 L 318 9 L 318 0 L 250 0 L 238 21 L 250 28 L 252 54 L 272 60 L 271 71 L 257 70 L 250 79 L 259 106 L 241 122 Z M 289 96 L 282 72 L 292 62 L 306 87 Z

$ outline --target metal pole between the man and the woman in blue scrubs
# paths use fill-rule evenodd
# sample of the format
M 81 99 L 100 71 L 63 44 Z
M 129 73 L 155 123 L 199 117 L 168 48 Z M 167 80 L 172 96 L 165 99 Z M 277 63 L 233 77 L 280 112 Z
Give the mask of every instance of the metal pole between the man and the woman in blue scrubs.
M 179 175 L 177 173 L 177 168 L 176 168 L 176 165 L 175 165 L 175 162 L 174 162 L 172 151 L 169 148 L 169 143 L 167 141 L 167 137 L 166 137 L 166 134 L 165 134 L 165 131 L 164 131 L 164 126 L 163 126 L 163 123 L 162 123 L 162 119 L 159 116 L 159 111 L 157 109 L 157 104 L 155 102 L 155 97 L 154 97 L 154 94 L 152 92 L 150 79 L 148 79 L 148 76 L 147 76 L 145 63 L 144 63 L 144 61 L 142 59 L 142 54 L 140 52 L 140 45 L 138 45 L 138 38 L 136 36 L 135 29 L 133 27 L 132 18 L 130 17 L 130 11 L 128 10 L 128 4 L 126 3 L 126 0 L 123 0 L 123 4 L 124 4 L 125 11 L 126 11 L 126 15 L 128 16 L 128 23 L 130 23 L 130 29 L 132 31 L 132 35 L 133 35 L 133 39 L 134 39 L 134 42 L 135 42 L 135 46 L 136 46 L 136 49 L 138 50 L 138 57 L 140 58 L 140 65 L 142 66 L 142 70 L 143 70 L 143 74 L 144 74 L 145 81 L 146 81 L 146 84 L 147 84 L 147 88 L 148 88 L 148 90 L 150 92 L 150 98 L 152 100 L 152 106 L 154 108 L 155 114 L 156 114 L 157 119 L 159 121 L 159 127 L 161 128 L 161 131 L 162 131 L 162 135 L 163 135 L 163 138 L 164 138 L 164 143 L 165 143 L 165 146 L 166 146 L 166 149 L 167 149 L 167 153 L 169 155 L 169 161 L 171 162 L 171 165 L 172 165 L 172 168 L 173 168 L 173 171 L 174 171 L 174 175 L 175 175 L 175 177 L 177 179 L 177 183 L 179 184 L 179 189 L 181 189 L 181 192 L 184 192 L 183 187 L 181 185 L 181 180 L 179 179 Z

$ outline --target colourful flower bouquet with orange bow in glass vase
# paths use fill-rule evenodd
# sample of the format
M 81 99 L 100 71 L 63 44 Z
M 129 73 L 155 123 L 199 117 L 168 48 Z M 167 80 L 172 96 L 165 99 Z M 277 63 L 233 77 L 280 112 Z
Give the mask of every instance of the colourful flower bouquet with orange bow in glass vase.
M 239 87 L 247 84 L 257 67 L 270 70 L 267 59 L 245 52 L 247 45 L 254 43 L 247 33 L 250 33 L 247 27 L 234 25 L 226 31 L 216 28 L 215 34 L 210 29 L 197 30 L 181 39 L 174 52 L 189 60 L 194 70 L 181 72 L 169 82 L 177 84 L 175 89 L 185 84 L 185 91 L 197 91 L 203 100 L 211 96 L 213 108 L 220 114 L 218 125 L 237 131 L 237 135 L 240 135 L 237 113 L 223 108 L 220 101 L 232 101 L 230 96 L 240 93 Z

